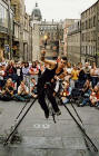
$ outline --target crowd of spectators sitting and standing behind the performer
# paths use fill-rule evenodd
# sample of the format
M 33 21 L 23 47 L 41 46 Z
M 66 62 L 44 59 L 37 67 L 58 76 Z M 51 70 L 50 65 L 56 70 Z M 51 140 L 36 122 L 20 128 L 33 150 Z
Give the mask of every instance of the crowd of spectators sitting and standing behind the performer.
M 14 62 L 4 60 L 0 62 L 0 99 L 29 101 L 36 98 L 38 77 L 48 67 L 38 60 L 32 64 Z M 65 67 L 66 76 L 63 79 L 55 77 L 55 95 L 59 91 L 63 104 L 68 104 L 70 98 L 81 97 L 79 106 L 99 107 L 99 68 L 93 62 L 72 65 Z M 51 81 L 52 82 L 52 81 Z M 60 87 L 61 86 L 61 87 Z

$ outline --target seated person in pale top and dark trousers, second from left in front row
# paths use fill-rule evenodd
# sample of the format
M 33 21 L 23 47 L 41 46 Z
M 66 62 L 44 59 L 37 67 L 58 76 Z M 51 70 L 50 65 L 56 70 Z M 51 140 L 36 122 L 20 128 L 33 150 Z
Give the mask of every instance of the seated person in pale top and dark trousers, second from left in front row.
M 18 94 L 14 95 L 16 100 L 19 101 L 29 101 L 30 100 L 29 88 L 26 86 L 22 80 L 20 86 L 18 87 Z

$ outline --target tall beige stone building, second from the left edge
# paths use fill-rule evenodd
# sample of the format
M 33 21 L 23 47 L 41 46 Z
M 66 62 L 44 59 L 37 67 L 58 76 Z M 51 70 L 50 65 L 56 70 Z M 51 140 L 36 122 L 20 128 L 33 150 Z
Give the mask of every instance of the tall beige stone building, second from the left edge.
M 31 60 L 31 26 L 30 16 L 26 13 L 24 0 L 11 0 L 14 12 L 12 59 Z

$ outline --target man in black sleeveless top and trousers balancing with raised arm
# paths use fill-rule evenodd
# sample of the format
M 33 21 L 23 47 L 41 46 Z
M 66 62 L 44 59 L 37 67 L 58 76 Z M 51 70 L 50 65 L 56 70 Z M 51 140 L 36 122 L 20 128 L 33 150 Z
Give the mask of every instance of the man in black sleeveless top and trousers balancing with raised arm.
M 59 78 L 63 78 L 66 76 L 66 71 L 63 70 L 67 58 L 61 58 L 57 64 L 51 60 L 44 59 L 46 51 L 41 53 L 41 60 L 50 66 L 53 66 L 53 69 L 46 69 L 44 72 L 39 77 L 38 85 L 37 85 L 37 91 L 38 91 L 38 101 L 41 106 L 41 108 L 44 110 L 46 118 L 49 117 L 49 109 L 46 104 L 44 97 L 46 91 L 44 87 L 47 82 L 51 82 L 51 79 L 55 78 L 55 76 L 58 76 Z M 57 115 L 61 115 L 61 111 L 56 103 L 56 98 L 53 96 L 53 88 L 49 88 L 49 94 L 47 95 L 48 99 L 50 100 L 52 108 Z

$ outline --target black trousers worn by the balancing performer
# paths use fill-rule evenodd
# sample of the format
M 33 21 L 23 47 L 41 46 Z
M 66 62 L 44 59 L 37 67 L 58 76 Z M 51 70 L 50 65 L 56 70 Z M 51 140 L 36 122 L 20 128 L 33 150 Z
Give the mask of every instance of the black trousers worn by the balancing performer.
M 49 114 L 49 108 L 46 103 L 46 96 L 51 103 L 55 113 L 59 111 L 56 98 L 53 97 L 53 89 L 51 87 L 48 86 L 47 88 L 44 88 L 44 85 L 38 81 L 37 91 L 38 91 L 38 101 L 41 108 L 44 110 L 44 114 Z

